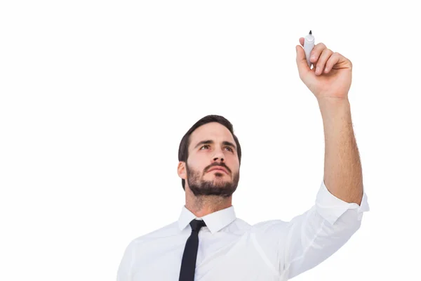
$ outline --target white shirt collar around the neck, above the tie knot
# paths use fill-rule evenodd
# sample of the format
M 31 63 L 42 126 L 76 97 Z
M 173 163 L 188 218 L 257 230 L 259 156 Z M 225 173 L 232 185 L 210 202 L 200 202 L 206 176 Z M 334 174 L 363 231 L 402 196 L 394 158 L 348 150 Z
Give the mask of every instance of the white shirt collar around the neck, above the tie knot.
M 206 226 L 210 230 L 210 233 L 214 234 L 222 228 L 225 228 L 225 226 L 228 226 L 229 223 L 235 221 L 236 214 L 234 211 L 234 206 L 231 206 L 198 218 L 191 211 L 189 211 L 189 209 L 183 206 L 180 217 L 178 218 L 178 227 L 180 230 L 185 229 L 187 226 L 189 226 L 190 221 L 194 220 L 195 218 L 203 219 L 203 221 L 206 223 Z

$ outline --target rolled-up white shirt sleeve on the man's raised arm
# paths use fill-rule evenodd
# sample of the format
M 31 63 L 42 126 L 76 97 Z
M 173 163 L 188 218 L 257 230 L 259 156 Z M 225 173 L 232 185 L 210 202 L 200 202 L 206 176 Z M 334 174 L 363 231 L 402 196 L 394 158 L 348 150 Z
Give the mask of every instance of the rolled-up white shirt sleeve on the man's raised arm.
M 330 193 L 323 180 L 314 206 L 286 224 L 282 274 L 290 279 L 328 259 L 356 233 L 369 210 L 365 191 L 360 205 L 348 203 Z

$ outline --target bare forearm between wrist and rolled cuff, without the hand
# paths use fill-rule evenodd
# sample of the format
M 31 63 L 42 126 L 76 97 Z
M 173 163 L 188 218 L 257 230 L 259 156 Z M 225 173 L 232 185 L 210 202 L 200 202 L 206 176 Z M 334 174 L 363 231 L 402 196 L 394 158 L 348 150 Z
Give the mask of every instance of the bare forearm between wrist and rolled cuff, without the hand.
M 324 183 L 340 200 L 361 204 L 363 176 L 349 100 L 318 100 L 325 136 Z

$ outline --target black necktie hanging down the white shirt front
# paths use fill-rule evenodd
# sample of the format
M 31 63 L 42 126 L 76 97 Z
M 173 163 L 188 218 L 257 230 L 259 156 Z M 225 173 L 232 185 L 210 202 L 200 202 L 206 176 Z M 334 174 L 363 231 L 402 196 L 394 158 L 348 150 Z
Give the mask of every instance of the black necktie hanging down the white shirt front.
M 187 238 L 184 254 L 182 254 L 179 281 L 194 281 L 197 247 L 199 247 L 199 230 L 206 226 L 204 221 L 194 219 L 190 222 L 192 234 Z

